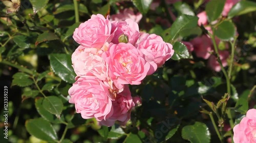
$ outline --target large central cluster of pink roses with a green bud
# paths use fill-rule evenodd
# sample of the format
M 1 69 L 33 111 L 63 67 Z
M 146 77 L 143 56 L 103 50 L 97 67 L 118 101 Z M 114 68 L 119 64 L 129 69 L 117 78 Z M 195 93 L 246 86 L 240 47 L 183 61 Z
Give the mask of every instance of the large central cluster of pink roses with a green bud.
M 80 44 L 72 54 L 76 81 L 69 102 L 82 118 L 100 125 L 125 125 L 131 108 L 140 102 L 129 84 L 138 85 L 173 55 L 173 46 L 155 34 L 140 35 L 132 19 L 110 21 L 97 14 L 75 29 Z

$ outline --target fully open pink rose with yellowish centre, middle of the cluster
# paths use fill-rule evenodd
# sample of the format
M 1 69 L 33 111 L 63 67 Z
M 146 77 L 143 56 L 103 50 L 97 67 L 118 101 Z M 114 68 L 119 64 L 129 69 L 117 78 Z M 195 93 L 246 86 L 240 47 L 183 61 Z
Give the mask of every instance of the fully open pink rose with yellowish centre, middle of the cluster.
M 102 58 L 109 65 L 108 74 L 119 90 L 124 84 L 140 84 L 150 69 L 143 53 L 130 43 L 110 43 Z

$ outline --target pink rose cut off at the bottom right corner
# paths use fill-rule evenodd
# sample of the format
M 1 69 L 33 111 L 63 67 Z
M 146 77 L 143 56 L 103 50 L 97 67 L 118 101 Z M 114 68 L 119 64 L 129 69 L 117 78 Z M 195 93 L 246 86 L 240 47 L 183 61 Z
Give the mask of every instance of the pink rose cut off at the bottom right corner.
M 241 122 L 233 128 L 234 143 L 256 142 L 256 109 L 249 109 Z

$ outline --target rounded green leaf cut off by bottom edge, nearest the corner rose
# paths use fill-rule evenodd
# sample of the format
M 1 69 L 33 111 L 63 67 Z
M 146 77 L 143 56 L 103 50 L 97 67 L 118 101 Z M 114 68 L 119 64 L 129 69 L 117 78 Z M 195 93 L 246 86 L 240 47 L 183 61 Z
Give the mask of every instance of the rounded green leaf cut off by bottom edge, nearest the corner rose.
M 191 141 L 191 143 L 208 143 L 210 142 L 210 132 L 208 127 L 201 122 L 194 125 L 188 125 L 182 128 L 182 138 Z

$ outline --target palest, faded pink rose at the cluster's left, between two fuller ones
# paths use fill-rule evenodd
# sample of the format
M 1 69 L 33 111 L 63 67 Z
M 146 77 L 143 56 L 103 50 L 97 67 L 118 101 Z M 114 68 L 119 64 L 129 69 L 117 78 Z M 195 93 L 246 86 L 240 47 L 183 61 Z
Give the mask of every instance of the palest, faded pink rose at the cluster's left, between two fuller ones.
M 97 48 L 79 46 L 72 54 L 72 66 L 80 77 L 96 76 L 100 80 L 106 79 L 107 66 L 101 58 L 103 51 Z

